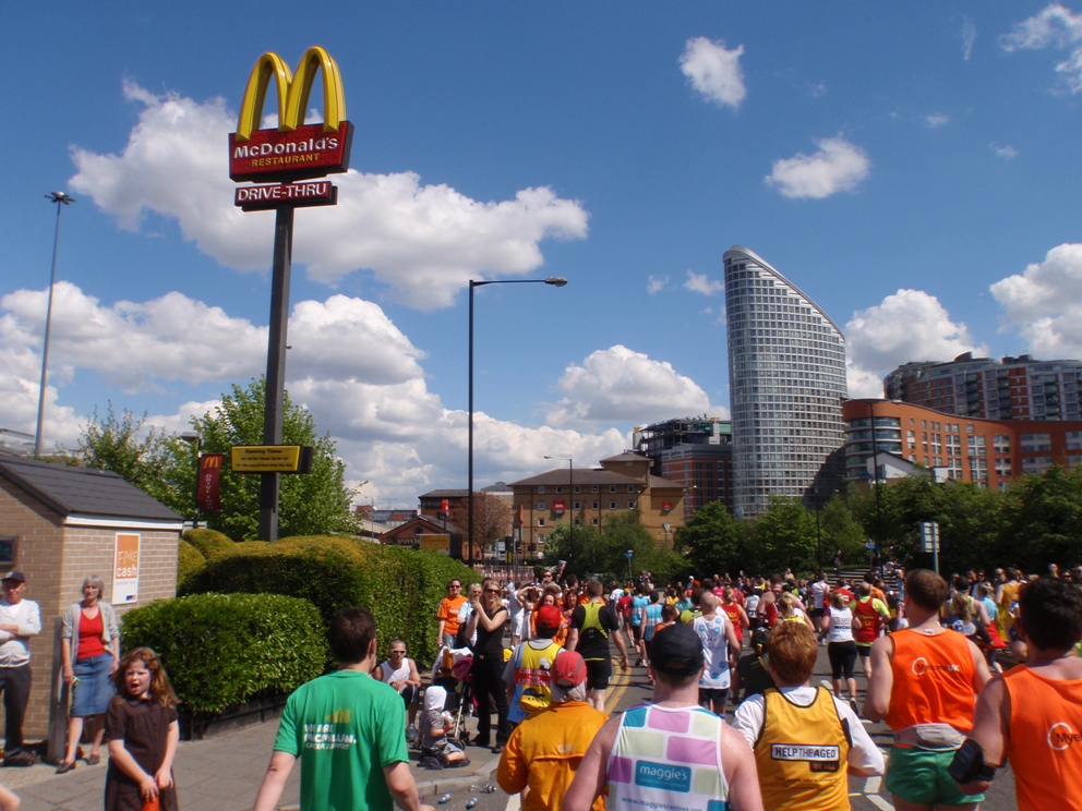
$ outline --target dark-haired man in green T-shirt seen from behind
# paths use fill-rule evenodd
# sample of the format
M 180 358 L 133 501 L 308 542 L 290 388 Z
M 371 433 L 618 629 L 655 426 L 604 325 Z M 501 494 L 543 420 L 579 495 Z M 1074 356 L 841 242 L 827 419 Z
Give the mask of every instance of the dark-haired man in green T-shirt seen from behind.
M 301 811 L 432 811 L 409 772 L 406 709 L 389 686 L 369 676 L 375 666 L 375 621 L 366 608 L 346 608 L 330 622 L 337 673 L 302 685 L 286 703 L 270 765 L 254 811 L 274 811 L 301 760 Z

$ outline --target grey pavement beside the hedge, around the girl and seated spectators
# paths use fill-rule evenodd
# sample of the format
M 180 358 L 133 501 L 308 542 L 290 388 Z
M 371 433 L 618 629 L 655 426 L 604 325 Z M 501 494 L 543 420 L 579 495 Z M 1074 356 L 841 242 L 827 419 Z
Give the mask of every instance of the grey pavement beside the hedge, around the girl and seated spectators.
M 467 722 L 471 730 L 476 719 Z M 256 724 L 205 740 L 181 741 L 173 774 L 180 807 L 184 811 L 247 811 L 263 782 L 277 722 Z M 84 752 L 88 751 L 84 746 Z M 410 751 L 410 772 L 420 794 L 435 804 L 448 791 L 462 792 L 471 785 L 494 783 L 500 755 L 468 747 L 470 765 L 432 772 L 418 767 L 420 755 Z M 56 774 L 56 766 L 39 763 L 26 768 L 0 768 L 0 784 L 22 800 L 20 811 L 100 811 L 105 797 L 106 750 L 101 763 L 87 766 L 79 761 L 75 771 Z M 491 775 L 491 776 L 490 776 Z M 296 811 L 300 800 L 300 768 L 294 766 L 282 791 L 279 808 Z

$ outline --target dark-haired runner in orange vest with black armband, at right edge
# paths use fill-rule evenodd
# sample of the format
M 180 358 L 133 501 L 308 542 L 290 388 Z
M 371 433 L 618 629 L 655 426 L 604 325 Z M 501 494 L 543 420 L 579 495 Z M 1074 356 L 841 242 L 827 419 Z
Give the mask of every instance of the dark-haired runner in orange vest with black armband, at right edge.
M 1020 811 L 1082 811 L 1082 591 L 1051 578 L 1022 586 L 1015 626 L 1030 657 L 981 693 L 951 776 L 976 794 L 1009 760 Z

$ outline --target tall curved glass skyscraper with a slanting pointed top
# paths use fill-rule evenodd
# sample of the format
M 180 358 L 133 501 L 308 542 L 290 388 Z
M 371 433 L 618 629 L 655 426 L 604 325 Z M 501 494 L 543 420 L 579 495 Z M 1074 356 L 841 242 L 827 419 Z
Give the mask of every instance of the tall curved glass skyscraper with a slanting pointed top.
M 826 503 L 844 475 L 845 338 L 830 317 L 741 245 L 725 252 L 733 506 L 770 496 Z

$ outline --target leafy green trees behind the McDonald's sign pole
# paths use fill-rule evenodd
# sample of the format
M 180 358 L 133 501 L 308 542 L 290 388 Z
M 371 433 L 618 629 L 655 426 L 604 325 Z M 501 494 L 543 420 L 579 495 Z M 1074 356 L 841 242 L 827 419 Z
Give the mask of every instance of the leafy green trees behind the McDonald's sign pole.
M 233 445 L 263 444 L 263 403 L 265 382 L 253 379 L 247 389 L 235 385 L 223 395 L 214 412 L 192 417 L 203 437 L 203 452 L 229 453 Z M 129 413 L 117 420 L 101 421 L 95 412 L 80 437 L 88 464 L 113 470 L 140 489 L 182 515 L 191 515 L 195 494 L 196 448 L 178 437 L 154 429 L 139 439 L 143 421 Z M 278 497 L 278 535 L 321 535 L 357 531 L 350 515 L 353 492 L 346 486 L 346 465 L 335 457 L 329 434 L 316 436 L 315 420 L 304 408 L 294 406 L 286 395 L 282 415 L 282 443 L 313 448 L 312 470 L 299 475 L 282 475 Z M 220 476 L 221 512 L 203 513 L 207 526 L 235 541 L 259 536 L 260 476 L 233 473 L 223 465 Z

